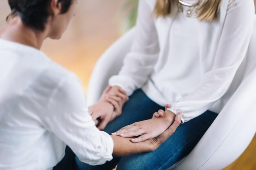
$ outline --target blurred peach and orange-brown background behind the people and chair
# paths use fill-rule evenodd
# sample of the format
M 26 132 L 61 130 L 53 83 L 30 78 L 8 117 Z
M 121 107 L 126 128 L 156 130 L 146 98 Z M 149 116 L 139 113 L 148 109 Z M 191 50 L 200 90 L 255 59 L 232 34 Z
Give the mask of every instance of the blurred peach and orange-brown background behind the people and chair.
M 42 51 L 76 73 L 86 93 L 90 74 L 98 58 L 135 24 L 137 2 L 79 0 L 77 14 L 61 40 L 47 39 Z M 5 18 L 9 13 L 7 0 L 0 0 L 0 27 L 6 23 Z M 243 155 L 225 170 L 256 170 L 256 136 Z

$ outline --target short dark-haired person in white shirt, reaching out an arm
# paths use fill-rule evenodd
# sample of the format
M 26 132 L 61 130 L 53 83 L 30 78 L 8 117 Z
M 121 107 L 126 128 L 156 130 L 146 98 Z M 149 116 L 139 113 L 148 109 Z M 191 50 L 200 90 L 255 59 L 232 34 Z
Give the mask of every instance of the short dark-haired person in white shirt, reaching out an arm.
M 97 129 L 79 79 L 39 51 L 46 38 L 61 38 L 78 0 L 8 2 L 11 14 L 0 28 L 0 170 L 51 170 L 66 145 L 99 165 L 155 150 L 179 126 L 177 116 L 162 135 L 138 144 Z

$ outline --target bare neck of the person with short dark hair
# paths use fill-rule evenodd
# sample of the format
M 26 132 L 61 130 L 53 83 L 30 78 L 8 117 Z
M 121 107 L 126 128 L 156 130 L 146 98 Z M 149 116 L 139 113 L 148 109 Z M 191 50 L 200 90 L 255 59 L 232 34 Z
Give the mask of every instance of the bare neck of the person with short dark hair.
M 15 16 L 0 29 L 0 38 L 40 49 L 43 41 L 47 38 L 46 30 L 31 29 L 22 23 L 20 17 Z

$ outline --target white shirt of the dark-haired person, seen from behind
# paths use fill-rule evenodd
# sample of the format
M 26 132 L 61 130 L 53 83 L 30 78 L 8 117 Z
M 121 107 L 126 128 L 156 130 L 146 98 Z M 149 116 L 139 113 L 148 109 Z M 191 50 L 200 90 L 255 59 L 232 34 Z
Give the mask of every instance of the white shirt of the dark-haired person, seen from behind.
M 37 49 L 0 39 L 0 170 L 50 170 L 70 146 L 91 165 L 112 159 L 79 79 Z

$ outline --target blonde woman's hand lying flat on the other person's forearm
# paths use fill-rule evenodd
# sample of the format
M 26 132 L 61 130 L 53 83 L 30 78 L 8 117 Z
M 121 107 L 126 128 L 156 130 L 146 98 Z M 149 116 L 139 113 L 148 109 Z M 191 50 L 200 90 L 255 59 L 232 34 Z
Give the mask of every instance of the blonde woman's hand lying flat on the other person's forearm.
M 117 132 L 112 133 L 112 135 L 119 135 L 121 137 L 139 136 L 131 140 L 133 143 L 145 141 L 162 134 L 171 124 L 173 124 L 174 119 L 175 114 L 166 110 L 162 117 L 136 122 L 121 128 Z

